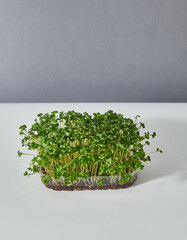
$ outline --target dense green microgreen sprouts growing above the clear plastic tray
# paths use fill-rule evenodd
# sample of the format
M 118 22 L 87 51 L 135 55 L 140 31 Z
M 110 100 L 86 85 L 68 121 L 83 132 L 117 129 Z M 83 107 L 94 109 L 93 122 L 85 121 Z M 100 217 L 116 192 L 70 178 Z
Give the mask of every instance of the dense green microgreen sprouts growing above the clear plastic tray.
M 132 179 L 131 173 L 143 170 L 151 157 L 144 151 L 149 139 L 156 133 L 141 133 L 145 124 L 117 114 L 112 110 L 104 114 L 75 111 L 39 113 L 28 129 L 20 126 L 22 147 L 36 154 L 24 176 L 35 173 L 42 180 L 63 178 L 66 184 L 78 178 L 120 176 L 120 182 Z M 162 153 L 157 148 L 155 152 Z M 27 155 L 18 151 L 18 156 Z M 102 185 L 102 180 L 98 180 Z

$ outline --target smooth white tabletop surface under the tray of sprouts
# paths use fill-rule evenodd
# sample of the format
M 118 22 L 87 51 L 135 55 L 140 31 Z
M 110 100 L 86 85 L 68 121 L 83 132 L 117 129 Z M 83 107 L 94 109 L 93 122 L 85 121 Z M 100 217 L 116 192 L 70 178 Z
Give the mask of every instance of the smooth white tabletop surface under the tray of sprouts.
M 55 192 L 39 176 L 24 177 L 29 157 L 18 128 L 39 112 L 105 112 L 141 115 L 156 131 L 153 154 L 137 182 L 124 190 Z M 187 104 L 0 104 L 0 239 L 186 240 Z

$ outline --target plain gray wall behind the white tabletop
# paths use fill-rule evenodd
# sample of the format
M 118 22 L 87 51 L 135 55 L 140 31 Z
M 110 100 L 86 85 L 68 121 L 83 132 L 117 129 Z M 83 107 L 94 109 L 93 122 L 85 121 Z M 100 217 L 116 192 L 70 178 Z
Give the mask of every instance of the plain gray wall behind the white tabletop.
M 0 102 L 186 102 L 187 0 L 0 0 Z

